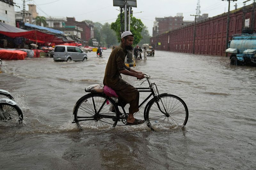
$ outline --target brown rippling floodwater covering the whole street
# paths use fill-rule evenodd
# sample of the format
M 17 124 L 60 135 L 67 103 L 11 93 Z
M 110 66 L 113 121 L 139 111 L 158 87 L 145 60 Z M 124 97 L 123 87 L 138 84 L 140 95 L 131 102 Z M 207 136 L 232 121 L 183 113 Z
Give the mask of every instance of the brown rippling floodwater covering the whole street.
M 102 85 L 110 52 L 88 53 L 85 62 L 3 61 L 0 89 L 11 92 L 24 121 L 0 122 L 0 169 L 255 169 L 256 67 L 230 66 L 228 57 L 156 51 L 133 68 L 186 102 L 185 128 L 80 131 L 73 107 L 85 87 Z

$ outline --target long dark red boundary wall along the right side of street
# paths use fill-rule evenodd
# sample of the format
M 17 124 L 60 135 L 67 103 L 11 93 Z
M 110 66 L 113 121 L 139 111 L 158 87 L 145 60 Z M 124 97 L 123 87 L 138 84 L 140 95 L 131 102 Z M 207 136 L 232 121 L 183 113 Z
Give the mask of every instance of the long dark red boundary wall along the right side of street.
M 254 25 L 255 16 L 254 10 Z M 195 54 L 225 56 L 228 13 L 196 22 Z M 233 34 L 242 33 L 244 19 L 252 23 L 252 4 L 230 11 L 229 40 Z M 150 45 L 156 50 L 193 53 L 194 24 L 184 26 L 150 38 Z M 161 45 L 159 45 L 161 43 Z

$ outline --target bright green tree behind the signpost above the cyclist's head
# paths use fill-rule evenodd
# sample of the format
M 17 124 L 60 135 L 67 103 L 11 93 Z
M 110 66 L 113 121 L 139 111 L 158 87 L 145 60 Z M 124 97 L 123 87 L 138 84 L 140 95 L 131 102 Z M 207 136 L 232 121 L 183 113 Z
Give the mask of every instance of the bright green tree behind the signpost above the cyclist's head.
M 123 17 L 124 17 L 124 15 L 123 15 Z M 124 21 L 124 18 L 123 18 L 123 21 Z M 131 23 L 130 24 L 131 24 L 130 31 L 132 32 L 132 34 L 134 36 L 133 45 L 135 46 L 142 39 L 142 36 L 140 33 L 142 31 L 142 27 L 144 26 L 144 24 L 142 23 L 142 21 L 140 19 L 137 19 L 137 18 L 133 17 L 132 15 L 131 15 Z M 111 29 L 116 32 L 118 42 L 121 41 L 120 27 L 121 26 L 120 26 L 120 14 L 119 14 L 118 18 L 116 19 L 116 22 L 111 23 Z

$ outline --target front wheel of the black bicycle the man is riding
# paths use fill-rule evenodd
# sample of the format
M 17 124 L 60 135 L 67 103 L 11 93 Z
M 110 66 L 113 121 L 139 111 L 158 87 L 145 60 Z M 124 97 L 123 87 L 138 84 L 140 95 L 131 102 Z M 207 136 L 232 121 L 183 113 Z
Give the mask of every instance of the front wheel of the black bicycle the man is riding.
M 178 125 L 186 125 L 188 121 L 188 107 L 178 96 L 160 94 L 160 100 L 149 101 L 144 116 L 147 125 L 152 130 L 157 128 L 172 129 Z

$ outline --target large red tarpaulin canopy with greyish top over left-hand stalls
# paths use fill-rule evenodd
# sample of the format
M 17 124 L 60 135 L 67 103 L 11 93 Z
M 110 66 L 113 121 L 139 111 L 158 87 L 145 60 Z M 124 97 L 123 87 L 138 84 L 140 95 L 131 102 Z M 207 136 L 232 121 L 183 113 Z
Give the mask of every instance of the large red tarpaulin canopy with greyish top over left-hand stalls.
M 43 33 L 37 30 L 27 31 L 20 28 L 16 28 L 14 26 L 10 26 L 2 22 L 0 22 L 0 34 L 4 34 L 11 38 L 24 37 L 31 41 L 54 42 L 58 44 L 66 43 L 61 38 L 57 38 L 54 34 Z M 74 41 L 70 41 L 70 42 L 74 42 Z

